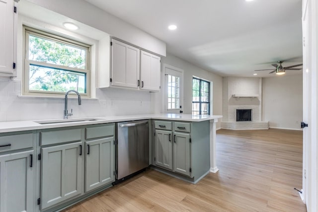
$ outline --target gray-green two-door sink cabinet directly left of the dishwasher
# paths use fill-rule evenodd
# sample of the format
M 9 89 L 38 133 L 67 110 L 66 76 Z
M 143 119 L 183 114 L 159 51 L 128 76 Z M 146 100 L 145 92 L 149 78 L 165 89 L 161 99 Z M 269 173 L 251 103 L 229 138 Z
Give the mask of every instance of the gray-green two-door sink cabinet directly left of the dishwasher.
M 114 181 L 115 124 L 46 129 L 39 138 L 41 211 L 58 211 Z

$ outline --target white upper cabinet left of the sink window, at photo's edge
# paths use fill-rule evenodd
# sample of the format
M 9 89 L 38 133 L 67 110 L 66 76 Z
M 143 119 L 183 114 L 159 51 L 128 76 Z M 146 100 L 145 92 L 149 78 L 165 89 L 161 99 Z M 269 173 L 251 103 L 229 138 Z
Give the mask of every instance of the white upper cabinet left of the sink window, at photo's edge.
M 16 7 L 13 0 L 0 0 L 0 75 L 16 76 Z

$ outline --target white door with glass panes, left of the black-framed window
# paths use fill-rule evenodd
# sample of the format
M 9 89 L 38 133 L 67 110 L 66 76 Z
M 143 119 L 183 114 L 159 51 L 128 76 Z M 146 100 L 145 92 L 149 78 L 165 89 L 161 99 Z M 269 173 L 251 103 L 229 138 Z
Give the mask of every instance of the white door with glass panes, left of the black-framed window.
M 183 112 L 183 70 L 164 64 L 164 108 L 166 113 Z

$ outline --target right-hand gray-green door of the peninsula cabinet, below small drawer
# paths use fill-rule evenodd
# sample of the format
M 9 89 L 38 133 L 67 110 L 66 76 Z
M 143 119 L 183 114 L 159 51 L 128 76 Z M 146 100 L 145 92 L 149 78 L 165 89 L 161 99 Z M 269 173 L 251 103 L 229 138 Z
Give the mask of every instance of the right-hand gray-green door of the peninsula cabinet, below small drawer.
M 190 176 L 190 134 L 174 132 L 173 139 L 173 171 Z

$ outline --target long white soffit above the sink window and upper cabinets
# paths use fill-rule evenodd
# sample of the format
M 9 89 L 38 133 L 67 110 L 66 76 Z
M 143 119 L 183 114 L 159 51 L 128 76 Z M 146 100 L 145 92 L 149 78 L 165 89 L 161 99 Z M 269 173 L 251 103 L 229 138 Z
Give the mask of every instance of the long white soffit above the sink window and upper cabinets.
M 27 0 L 111 36 L 165 56 L 165 43 L 85 0 Z

